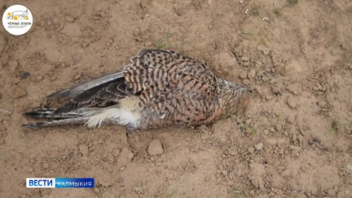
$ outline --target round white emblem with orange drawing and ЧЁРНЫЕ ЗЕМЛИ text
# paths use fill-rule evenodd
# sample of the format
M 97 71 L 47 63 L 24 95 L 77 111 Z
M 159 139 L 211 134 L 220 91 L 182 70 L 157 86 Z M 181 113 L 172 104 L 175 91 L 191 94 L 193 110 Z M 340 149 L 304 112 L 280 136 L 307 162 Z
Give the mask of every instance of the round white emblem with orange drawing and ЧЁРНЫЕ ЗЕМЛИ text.
M 13 5 L 6 9 L 2 18 L 5 30 L 12 35 L 23 35 L 32 27 L 33 17 L 28 8 Z

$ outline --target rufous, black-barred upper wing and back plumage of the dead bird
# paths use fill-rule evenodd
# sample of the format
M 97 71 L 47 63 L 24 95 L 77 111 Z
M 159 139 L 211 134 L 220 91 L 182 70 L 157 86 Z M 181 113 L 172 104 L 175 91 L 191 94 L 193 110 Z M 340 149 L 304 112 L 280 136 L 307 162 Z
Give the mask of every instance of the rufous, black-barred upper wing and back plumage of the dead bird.
M 211 113 L 216 94 L 215 75 L 203 63 L 176 51 L 144 49 L 122 70 L 125 84 L 141 101 L 164 116 L 191 122 Z

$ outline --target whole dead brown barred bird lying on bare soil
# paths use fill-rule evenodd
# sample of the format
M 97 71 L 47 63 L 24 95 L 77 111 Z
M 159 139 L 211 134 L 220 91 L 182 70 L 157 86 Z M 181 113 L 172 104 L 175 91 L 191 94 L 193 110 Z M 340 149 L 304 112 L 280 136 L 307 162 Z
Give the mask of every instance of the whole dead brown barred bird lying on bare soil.
M 132 130 L 173 123 L 209 124 L 245 109 L 249 92 L 176 51 L 144 49 L 121 71 L 49 98 L 70 101 L 60 109 L 25 113 L 32 118 L 53 118 L 25 127 L 85 123 L 95 128 L 101 123 L 117 123 Z

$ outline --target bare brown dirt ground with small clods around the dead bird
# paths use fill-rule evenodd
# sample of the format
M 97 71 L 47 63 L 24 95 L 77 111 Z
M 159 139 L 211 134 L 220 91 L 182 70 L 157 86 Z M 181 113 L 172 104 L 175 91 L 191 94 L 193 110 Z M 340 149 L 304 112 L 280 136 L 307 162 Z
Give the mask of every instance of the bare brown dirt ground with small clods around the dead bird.
M 0 197 L 352 197 L 352 1 L 2 1 L 32 29 L 0 29 Z M 20 128 L 24 111 L 139 49 L 206 61 L 253 90 L 209 126 Z M 163 154 L 150 156 L 160 140 Z M 25 178 L 93 177 L 94 189 Z

